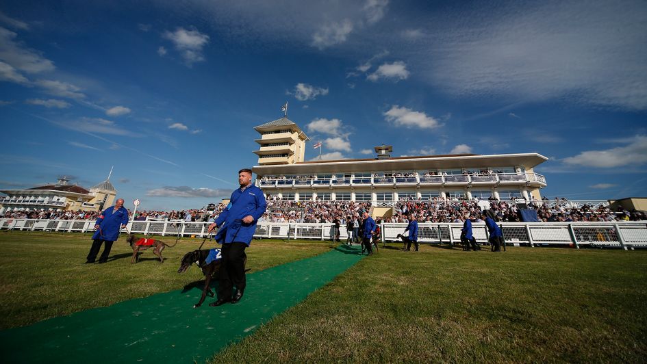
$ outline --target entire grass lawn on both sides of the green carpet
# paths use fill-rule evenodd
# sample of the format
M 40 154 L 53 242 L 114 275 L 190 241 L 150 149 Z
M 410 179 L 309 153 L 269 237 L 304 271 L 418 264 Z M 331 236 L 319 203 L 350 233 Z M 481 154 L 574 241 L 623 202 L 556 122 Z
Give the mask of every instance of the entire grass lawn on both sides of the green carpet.
M 173 242 L 173 239 L 170 239 Z M 199 280 L 184 252 L 84 265 L 89 237 L 0 233 L 0 325 L 21 326 Z M 217 353 L 214 362 L 578 361 L 647 359 L 647 251 L 380 249 L 307 300 Z M 255 241 L 249 267 L 316 255 L 325 242 Z M 289 287 L 288 287 L 289 289 Z

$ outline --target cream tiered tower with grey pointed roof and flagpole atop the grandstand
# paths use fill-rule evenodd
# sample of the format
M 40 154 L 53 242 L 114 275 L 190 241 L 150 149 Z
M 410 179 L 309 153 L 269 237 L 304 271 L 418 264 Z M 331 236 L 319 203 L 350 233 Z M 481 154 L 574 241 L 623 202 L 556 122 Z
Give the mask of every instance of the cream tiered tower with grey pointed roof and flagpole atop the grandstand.
M 261 138 L 255 140 L 260 148 L 254 151 L 258 155 L 259 166 L 296 164 L 303 161 L 305 142 L 309 138 L 292 120 L 283 117 L 254 129 L 261 134 Z

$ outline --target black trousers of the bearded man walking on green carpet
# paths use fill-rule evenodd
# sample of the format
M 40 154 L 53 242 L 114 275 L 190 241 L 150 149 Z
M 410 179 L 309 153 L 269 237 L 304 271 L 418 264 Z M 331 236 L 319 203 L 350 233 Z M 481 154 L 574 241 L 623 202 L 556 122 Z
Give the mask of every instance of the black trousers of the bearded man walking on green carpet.
M 236 285 L 236 289 L 245 290 L 245 248 L 247 244 L 233 242 L 223 244 L 220 253 L 223 255 L 223 263 L 220 263 L 220 283 L 218 287 L 218 296 L 221 300 L 231 299 L 231 289 Z

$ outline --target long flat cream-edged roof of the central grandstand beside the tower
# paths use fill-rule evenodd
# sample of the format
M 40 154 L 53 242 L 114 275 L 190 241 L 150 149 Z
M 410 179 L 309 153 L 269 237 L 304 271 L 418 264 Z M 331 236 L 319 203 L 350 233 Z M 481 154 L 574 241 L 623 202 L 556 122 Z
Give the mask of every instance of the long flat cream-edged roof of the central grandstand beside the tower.
M 539 153 L 516 153 L 500 155 L 451 154 L 424 155 L 416 157 L 392 157 L 390 159 L 339 159 L 333 161 L 305 161 L 292 165 L 255 166 L 254 172 L 265 174 L 335 173 L 335 172 L 380 172 L 388 170 L 424 170 L 451 168 L 485 168 L 523 166 L 526 169 L 547 161 Z

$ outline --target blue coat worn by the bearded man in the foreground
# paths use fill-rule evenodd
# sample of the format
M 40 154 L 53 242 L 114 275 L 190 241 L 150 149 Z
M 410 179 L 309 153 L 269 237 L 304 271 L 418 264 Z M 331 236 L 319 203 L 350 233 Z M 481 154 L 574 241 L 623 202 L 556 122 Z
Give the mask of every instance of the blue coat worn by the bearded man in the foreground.
M 249 246 L 256 231 L 256 222 L 263 216 L 266 208 L 265 196 L 259 187 L 250 185 L 244 191 L 242 188 L 234 190 L 229 205 L 216 219 L 216 226 L 220 227 L 216 234 L 216 242 L 240 242 Z M 248 215 L 254 218 L 250 224 L 242 222 L 242 218 Z

